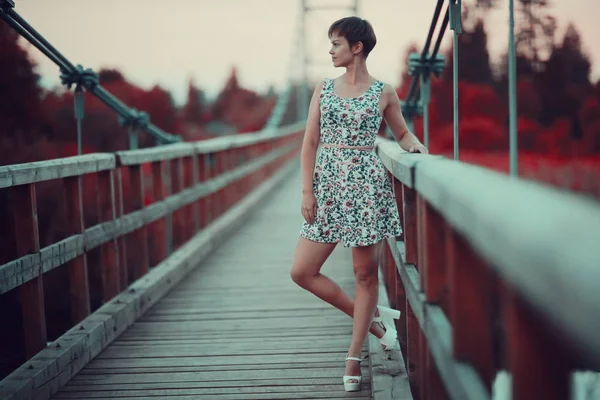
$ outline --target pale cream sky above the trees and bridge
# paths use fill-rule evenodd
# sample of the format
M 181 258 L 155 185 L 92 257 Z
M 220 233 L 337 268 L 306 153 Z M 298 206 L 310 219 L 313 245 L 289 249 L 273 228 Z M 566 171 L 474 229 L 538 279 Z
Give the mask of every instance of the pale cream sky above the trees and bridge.
M 468 3 L 468 0 L 465 0 Z M 560 38 L 574 23 L 600 79 L 600 27 L 592 12 L 596 0 L 551 0 Z M 327 28 L 349 15 L 353 0 L 307 0 L 310 6 L 336 6 L 305 15 L 309 77 L 317 82 L 344 71 L 331 66 Z M 209 97 L 223 87 L 232 67 L 240 84 L 258 92 L 280 89 L 300 75 L 300 0 L 15 0 L 15 10 L 71 62 L 97 71 L 119 69 L 143 87 L 158 84 L 185 101 L 190 80 Z M 425 42 L 435 0 L 362 0 L 359 15 L 371 22 L 377 45 L 369 55 L 371 75 L 400 83 L 407 47 Z M 441 18 L 440 18 L 441 20 Z M 441 21 L 440 21 L 441 22 Z M 498 61 L 508 43 L 508 0 L 488 16 L 488 48 Z M 443 49 L 451 48 L 448 31 Z M 60 85 L 58 67 L 24 42 L 37 63 L 42 85 Z M 460 55 L 459 55 L 460 56 Z

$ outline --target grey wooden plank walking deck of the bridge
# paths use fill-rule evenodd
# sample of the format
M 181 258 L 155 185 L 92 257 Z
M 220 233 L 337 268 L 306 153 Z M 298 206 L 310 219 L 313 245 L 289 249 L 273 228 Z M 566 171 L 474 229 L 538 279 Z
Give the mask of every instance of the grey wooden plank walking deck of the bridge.
M 370 399 L 368 361 L 342 384 L 352 320 L 290 279 L 299 204 L 297 173 L 53 399 Z M 323 272 L 354 295 L 348 249 Z

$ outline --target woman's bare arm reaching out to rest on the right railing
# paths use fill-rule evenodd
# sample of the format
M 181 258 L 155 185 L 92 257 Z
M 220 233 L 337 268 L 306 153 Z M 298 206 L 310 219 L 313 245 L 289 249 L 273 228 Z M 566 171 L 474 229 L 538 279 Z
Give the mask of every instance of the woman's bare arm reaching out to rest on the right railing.
M 386 84 L 381 96 L 383 97 L 381 100 L 384 106 L 383 118 L 400 147 L 409 153 L 428 154 L 427 148 L 408 130 L 396 90 L 391 85 Z

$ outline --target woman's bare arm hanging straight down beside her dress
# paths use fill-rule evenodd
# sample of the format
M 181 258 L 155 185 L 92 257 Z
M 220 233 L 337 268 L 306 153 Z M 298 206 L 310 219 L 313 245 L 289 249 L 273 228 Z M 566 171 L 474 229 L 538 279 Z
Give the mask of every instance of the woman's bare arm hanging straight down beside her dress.
M 302 152 L 300 155 L 300 163 L 302 170 L 302 194 L 312 194 L 313 190 L 313 174 L 315 169 L 315 161 L 317 157 L 317 148 L 320 141 L 320 126 L 321 110 L 319 108 L 319 99 L 323 82 L 319 83 L 313 92 L 308 107 L 308 118 L 306 120 L 306 129 L 304 131 L 304 140 L 302 142 Z

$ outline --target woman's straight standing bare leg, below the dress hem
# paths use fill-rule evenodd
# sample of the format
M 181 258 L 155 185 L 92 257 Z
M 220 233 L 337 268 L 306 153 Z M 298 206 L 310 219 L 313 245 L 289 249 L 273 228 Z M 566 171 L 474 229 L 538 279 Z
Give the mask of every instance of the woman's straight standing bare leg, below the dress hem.
M 348 355 L 360 357 L 365 344 L 379 297 L 379 250 L 381 242 L 352 249 L 352 263 L 356 280 L 356 297 L 352 328 L 352 343 Z M 360 375 L 357 361 L 346 362 L 346 375 Z

